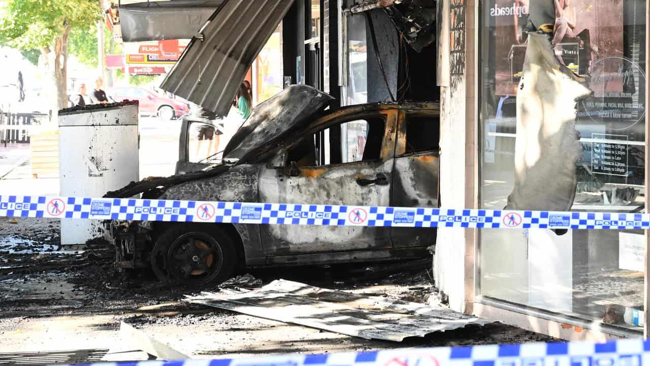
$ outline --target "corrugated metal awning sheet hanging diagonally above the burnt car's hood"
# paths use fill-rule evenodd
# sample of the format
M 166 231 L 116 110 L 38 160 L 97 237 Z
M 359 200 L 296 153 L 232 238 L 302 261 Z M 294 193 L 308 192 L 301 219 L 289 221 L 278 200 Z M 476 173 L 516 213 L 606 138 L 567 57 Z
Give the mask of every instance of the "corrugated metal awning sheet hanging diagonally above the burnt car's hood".
M 226 0 L 192 38 L 161 89 L 226 115 L 246 70 L 293 0 Z

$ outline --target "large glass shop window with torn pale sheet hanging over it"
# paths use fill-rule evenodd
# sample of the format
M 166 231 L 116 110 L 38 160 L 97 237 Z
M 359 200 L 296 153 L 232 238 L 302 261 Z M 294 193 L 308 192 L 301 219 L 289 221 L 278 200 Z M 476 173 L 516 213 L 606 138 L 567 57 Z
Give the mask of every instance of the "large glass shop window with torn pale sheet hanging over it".
M 482 3 L 482 208 L 646 212 L 645 11 Z M 642 331 L 643 247 L 642 231 L 482 229 L 480 294 Z

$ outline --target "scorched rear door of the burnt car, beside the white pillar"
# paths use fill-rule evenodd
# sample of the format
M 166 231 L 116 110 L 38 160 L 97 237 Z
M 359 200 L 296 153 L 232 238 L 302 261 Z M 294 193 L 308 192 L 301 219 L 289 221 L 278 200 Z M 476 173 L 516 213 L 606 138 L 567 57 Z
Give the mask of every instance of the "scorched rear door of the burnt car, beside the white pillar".
M 438 206 L 439 121 L 437 109 L 400 111 L 391 205 Z M 414 214 L 405 214 L 395 221 L 407 223 L 414 219 Z M 432 246 L 435 234 L 430 227 L 393 227 L 393 247 Z

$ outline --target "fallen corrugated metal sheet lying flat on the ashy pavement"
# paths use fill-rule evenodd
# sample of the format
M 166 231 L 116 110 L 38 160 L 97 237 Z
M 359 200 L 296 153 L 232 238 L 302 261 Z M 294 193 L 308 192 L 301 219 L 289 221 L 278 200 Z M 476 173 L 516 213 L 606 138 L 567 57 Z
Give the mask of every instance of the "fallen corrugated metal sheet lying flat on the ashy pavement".
M 252 291 L 202 292 L 187 296 L 186 301 L 353 337 L 397 342 L 489 323 L 447 307 L 320 289 L 283 279 Z

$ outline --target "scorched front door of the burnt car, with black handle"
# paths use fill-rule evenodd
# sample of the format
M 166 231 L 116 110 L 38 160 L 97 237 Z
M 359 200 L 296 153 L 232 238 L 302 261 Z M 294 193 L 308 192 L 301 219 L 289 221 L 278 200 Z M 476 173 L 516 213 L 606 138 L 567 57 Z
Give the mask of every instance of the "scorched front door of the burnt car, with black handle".
M 278 166 L 261 169 L 260 201 L 388 206 L 396 118 L 396 110 L 384 110 L 317 120 L 283 149 Z M 367 219 L 367 212 L 355 219 Z M 389 227 L 261 225 L 260 232 L 268 262 L 305 262 L 297 259 L 300 254 L 391 248 Z

